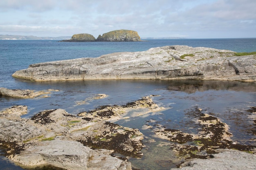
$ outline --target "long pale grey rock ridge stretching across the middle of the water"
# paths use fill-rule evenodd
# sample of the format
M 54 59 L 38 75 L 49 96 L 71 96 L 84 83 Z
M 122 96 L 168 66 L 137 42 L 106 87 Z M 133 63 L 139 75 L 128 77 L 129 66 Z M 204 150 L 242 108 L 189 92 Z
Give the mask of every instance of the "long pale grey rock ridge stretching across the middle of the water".
M 204 47 L 163 46 L 142 52 L 123 52 L 31 64 L 13 77 L 33 81 L 76 79 L 212 79 L 256 80 L 256 57 Z

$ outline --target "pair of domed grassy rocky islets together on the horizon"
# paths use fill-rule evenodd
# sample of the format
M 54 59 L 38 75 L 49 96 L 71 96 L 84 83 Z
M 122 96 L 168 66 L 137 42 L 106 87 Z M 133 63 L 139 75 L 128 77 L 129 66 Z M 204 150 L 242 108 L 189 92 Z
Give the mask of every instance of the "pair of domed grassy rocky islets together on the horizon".
M 141 41 L 138 33 L 132 30 L 115 30 L 108 33 L 99 35 L 97 39 L 93 35 L 82 33 L 74 34 L 70 40 L 61 40 L 59 42 L 95 42 L 95 41 L 107 41 L 107 42 L 124 42 L 124 41 Z

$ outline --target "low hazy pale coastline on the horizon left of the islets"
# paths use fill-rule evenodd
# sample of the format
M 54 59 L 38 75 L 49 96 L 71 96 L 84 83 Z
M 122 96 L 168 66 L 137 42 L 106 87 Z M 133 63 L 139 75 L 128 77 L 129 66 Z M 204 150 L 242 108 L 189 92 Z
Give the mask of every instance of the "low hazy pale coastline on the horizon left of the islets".
M 36 37 L 33 35 L 0 35 L 0 40 L 67 40 L 71 36 Z

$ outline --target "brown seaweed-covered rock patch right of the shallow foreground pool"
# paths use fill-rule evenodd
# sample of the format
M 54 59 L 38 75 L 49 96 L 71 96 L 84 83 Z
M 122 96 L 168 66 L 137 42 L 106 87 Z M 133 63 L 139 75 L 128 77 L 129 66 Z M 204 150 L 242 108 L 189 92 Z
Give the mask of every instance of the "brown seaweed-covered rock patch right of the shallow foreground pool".
M 155 124 L 153 132 L 155 137 L 167 139 L 171 142 L 171 149 L 178 157 L 183 159 L 211 157 L 211 154 L 218 153 L 220 148 L 235 149 L 256 153 L 256 146 L 241 145 L 233 142 L 228 132 L 227 124 L 223 123 L 217 117 L 203 113 L 201 108 L 195 107 L 187 113 L 195 122 L 198 133 L 185 133 L 177 129 L 166 129 L 160 124 Z M 150 123 L 148 123 L 149 126 Z M 192 126 L 192 124 L 191 124 Z

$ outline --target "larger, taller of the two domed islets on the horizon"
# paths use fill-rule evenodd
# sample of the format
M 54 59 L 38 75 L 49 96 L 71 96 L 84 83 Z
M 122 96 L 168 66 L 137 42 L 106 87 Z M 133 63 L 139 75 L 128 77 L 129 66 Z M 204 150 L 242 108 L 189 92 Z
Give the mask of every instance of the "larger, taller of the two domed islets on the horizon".
M 140 37 L 136 31 L 121 29 L 99 35 L 97 41 L 140 41 Z

